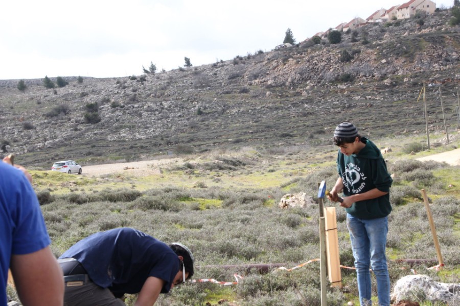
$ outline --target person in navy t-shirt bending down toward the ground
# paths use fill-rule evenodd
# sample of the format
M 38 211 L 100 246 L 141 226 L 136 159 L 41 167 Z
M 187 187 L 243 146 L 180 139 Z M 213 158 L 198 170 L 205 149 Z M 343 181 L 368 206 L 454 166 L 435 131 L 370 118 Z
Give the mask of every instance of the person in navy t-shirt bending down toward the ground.
M 134 305 L 151 306 L 192 277 L 193 254 L 129 227 L 80 240 L 58 260 L 64 272 L 64 304 L 125 305 L 125 293 L 139 293 Z

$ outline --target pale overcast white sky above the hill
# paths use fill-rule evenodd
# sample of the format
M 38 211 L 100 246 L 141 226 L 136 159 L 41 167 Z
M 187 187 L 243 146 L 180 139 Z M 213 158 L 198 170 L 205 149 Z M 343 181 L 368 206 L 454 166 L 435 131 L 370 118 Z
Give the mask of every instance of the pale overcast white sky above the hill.
M 0 80 L 111 78 L 268 52 L 397 0 L 21 0 L 0 2 Z M 434 1 L 450 8 L 453 0 Z

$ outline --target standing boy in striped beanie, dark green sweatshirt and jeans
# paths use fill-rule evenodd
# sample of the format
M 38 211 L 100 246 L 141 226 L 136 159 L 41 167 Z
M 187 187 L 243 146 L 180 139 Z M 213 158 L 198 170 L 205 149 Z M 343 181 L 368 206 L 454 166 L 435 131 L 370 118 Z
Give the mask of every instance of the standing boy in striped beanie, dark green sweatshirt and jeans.
M 392 185 L 385 161 L 377 146 L 361 137 L 355 125 L 340 123 L 333 142 L 339 147 L 337 170 L 339 178 L 328 198 L 338 201 L 347 211 L 347 227 L 355 258 L 359 300 L 362 306 L 371 305 L 371 273 L 377 279 L 380 306 L 390 304 L 390 282 L 385 246 L 388 215 L 392 211 L 389 188 Z

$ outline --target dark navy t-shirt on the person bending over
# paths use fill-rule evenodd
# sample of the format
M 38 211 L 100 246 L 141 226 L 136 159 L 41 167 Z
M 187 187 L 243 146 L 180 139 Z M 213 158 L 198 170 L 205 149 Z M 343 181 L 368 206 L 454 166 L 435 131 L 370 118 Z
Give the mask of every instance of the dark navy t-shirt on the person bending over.
M 88 236 L 60 258 L 71 257 L 95 284 L 117 295 L 139 293 L 149 276 L 163 279 L 167 293 L 179 271 L 179 258 L 167 244 L 129 227 Z

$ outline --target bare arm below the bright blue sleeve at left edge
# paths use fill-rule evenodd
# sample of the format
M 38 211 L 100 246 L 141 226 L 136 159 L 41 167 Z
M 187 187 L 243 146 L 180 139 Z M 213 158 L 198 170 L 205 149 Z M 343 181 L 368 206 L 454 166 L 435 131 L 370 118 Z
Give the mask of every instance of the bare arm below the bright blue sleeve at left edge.
M 10 268 L 22 305 L 63 305 L 64 278 L 49 246 L 29 254 L 13 254 Z

